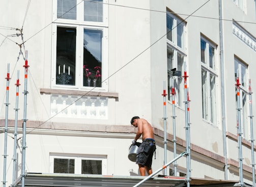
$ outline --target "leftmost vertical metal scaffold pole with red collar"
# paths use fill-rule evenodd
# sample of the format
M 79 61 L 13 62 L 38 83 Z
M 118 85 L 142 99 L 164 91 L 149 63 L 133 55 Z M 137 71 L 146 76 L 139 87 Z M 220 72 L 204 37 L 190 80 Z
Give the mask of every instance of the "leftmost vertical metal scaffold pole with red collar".
M 7 77 L 6 77 L 6 113 L 5 113 L 5 147 L 4 147 L 4 177 L 3 177 L 3 187 L 6 186 L 6 160 L 7 160 L 7 132 L 8 132 L 8 106 L 9 106 L 9 80 L 10 78 L 10 64 L 7 66 Z

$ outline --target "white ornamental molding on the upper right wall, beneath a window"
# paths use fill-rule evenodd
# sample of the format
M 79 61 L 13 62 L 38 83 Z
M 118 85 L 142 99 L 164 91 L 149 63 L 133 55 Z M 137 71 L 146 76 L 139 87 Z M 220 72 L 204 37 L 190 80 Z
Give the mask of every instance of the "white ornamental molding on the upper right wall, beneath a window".
M 241 26 L 233 22 L 233 35 L 240 39 L 244 44 L 250 47 L 253 51 L 256 51 L 256 40 Z

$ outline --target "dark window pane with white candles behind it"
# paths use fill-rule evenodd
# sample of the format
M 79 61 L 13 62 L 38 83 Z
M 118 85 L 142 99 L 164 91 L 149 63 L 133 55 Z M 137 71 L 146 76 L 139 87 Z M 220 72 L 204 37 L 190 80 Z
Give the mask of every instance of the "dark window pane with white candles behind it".
M 75 85 L 76 29 L 57 27 L 56 84 Z

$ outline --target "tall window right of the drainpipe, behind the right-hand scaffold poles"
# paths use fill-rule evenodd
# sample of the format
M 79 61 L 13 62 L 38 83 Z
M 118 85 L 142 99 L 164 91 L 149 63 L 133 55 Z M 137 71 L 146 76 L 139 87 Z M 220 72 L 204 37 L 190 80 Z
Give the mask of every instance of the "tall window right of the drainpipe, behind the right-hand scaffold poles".
M 237 86 L 236 86 L 236 104 L 238 109 L 238 102 L 240 104 L 240 119 L 241 119 L 241 131 L 242 136 L 246 139 L 249 139 L 249 124 L 248 124 L 248 102 L 246 102 L 248 97 L 247 91 L 247 66 L 242 63 L 241 60 L 235 58 L 235 81 L 237 81 L 237 77 L 239 78 L 239 83 L 241 84 L 239 87 L 240 90 L 240 97 L 239 101 L 237 98 Z M 237 82 L 236 82 L 237 83 Z M 235 83 L 235 84 L 236 84 Z M 238 110 L 237 110 L 237 117 L 238 117 Z

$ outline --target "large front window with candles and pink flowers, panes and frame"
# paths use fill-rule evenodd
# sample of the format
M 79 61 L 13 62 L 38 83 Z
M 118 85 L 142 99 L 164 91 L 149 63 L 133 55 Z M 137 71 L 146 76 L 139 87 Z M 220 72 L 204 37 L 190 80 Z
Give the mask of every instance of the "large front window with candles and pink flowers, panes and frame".
M 106 90 L 106 0 L 55 0 L 55 87 Z M 56 17 L 54 17 L 56 16 Z

